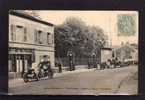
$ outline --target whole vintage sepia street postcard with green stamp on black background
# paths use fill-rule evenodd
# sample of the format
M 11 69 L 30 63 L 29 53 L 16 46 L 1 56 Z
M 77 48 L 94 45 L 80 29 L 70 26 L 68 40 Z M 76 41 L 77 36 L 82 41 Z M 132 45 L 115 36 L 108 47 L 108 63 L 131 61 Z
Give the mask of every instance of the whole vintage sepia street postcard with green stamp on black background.
M 9 95 L 137 95 L 138 12 L 9 11 Z

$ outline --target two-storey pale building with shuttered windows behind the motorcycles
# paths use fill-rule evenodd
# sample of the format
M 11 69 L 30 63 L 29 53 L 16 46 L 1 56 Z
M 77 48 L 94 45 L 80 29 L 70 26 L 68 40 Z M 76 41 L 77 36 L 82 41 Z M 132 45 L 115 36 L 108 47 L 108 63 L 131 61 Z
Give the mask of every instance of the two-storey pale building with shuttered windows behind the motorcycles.
M 33 16 L 9 12 L 9 78 L 36 68 L 44 55 L 54 66 L 54 25 Z

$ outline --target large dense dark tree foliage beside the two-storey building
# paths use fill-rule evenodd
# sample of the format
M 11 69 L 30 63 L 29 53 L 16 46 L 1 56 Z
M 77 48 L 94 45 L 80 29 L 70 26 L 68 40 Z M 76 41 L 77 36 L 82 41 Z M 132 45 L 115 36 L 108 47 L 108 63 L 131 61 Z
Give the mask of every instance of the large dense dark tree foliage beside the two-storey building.
M 107 36 L 98 26 L 87 26 L 76 17 L 69 17 L 61 25 L 55 27 L 56 56 L 66 57 L 72 49 L 77 57 L 89 56 L 106 44 Z

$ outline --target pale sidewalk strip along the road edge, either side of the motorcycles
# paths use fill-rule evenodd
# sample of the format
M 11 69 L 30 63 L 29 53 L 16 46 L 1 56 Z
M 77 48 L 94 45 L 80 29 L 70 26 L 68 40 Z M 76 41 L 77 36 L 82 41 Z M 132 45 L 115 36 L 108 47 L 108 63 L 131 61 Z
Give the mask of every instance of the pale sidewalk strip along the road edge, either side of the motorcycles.
M 80 73 L 80 72 L 89 72 L 89 71 L 93 71 L 93 70 L 96 70 L 96 68 L 87 69 L 87 68 L 84 68 L 82 66 L 77 66 L 77 69 L 74 70 L 74 71 L 65 71 L 65 70 L 63 70 L 62 73 L 55 73 L 54 78 L 55 77 L 61 77 L 63 75 L 67 75 L 67 74 L 74 74 L 74 73 Z M 27 84 L 30 84 L 30 83 L 29 82 L 25 83 L 23 81 L 23 78 L 9 79 L 9 87 L 23 86 L 23 85 L 27 85 Z

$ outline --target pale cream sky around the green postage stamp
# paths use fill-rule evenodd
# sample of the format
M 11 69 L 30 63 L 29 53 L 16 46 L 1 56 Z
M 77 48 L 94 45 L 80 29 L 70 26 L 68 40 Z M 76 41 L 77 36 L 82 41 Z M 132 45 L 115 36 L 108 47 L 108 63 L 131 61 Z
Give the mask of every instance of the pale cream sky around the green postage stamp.
M 67 17 L 79 17 L 90 26 L 101 27 L 108 35 L 110 44 L 120 45 L 121 42 L 138 43 L 138 12 L 137 11 L 79 11 L 79 10 L 36 10 L 41 19 L 54 25 L 62 24 Z M 136 33 L 134 36 L 117 35 L 117 15 L 135 14 Z

